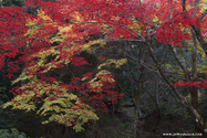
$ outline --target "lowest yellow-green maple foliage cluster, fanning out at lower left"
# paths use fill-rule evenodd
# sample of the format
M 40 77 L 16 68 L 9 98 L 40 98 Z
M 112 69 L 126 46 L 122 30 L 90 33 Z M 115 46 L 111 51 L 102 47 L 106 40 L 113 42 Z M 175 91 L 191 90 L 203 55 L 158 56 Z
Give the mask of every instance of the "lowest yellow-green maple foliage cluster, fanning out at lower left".
M 21 79 L 19 78 L 19 81 Z M 84 130 L 82 125 L 87 123 L 89 119 L 99 119 L 92 107 L 82 103 L 76 95 L 69 93 L 65 87 L 61 87 L 59 82 L 49 84 L 37 79 L 37 76 L 34 76 L 32 81 L 19 89 L 23 93 L 15 96 L 13 100 L 6 103 L 3 108 L 12 106 L 12 109 L 35 110 L 40 116 L 49 116 L 42 124 L 58 121 L 72 126 L 75 131 Z M 61 93 L 62 96 L 58 93 Z M 59 98 L 55 95 L 59 95 Z M 55 100 L 50 100 L 51 98 Z M 43 105 L 39 108 L 38 104 L 42 102 Z

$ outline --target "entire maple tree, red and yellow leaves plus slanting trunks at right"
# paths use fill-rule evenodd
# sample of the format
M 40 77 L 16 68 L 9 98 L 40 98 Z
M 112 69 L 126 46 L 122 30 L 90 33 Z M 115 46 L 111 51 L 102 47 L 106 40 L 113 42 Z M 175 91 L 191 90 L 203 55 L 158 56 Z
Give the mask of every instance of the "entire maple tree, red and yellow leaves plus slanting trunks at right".
M 76 116 L 80 116 L 75 127 L 81 128 L 81 125 L 89 119 L 97 117 L 93 114 L 94 110 L 84 103 L 83 96 L 69 92 L 83 92 L 83 95 L 94 93 L 95 95 L 92 94 L 89 98 L 89 100 L 95 99 L 92 102 L 93 106 L 100 105 L 99 103 L 102 103 L 106 95 L 112 95 L 112 98 L 108 99 L 112 103 L 117 96 L 121 96 L 117 92 L 111 91 L 115 83 L 111 73 L 102 70 L 105 64 L 100 66 L 100 72 L 94 78 L 91 73 L 86 73 L 82 78 L 74 77 L 71 84 L 64 85 L 44 74 L 69 63 L 75 66 L 87 65 L 89 63 L 79 55 L 82 51 L 94 53 L 93 45 L 95 44 L 103 46 L 114 40 L 137 41 L 146 45 L 159 74 L 173 89 L 179 103 L 192 115 L 197 130 L 206 132 L 207 128 L 198 113 L 197 87 L 205 87 L 207 83 L 197 79 L 196 57 L 198 43 L 207 54 L 205 2 L 205 0 L 56 0 L 56 2 L 27 0 L 24 9 L 1 8 L 0 66 L 4 64 L 7 57 L 15 57 L 17 53 L 21 53 L 19 60 L 10 62 L 9 70 L 4 72 L 8 73 L 8 77 L 11 77 L 12 73 L 19 70 L 19 64 L 24 63 L 27 67 L 15 82 L 29 79 L 29 83 L 12 91 L 18 96 L 6 105 L 30 110 L 37 108 L 32 103 L 38 104 L 41 98 L 44 99 L 45 105 L 38 113 L 44 115 L 46 112 L 53 110 L 52 105 L 59 102 L 64 108 L 68 108 L 64 110 L 64 115 L 53 114 L 54 116 L 46 121 L 60 120 L 60 123 L 72 126 L 72 123 L 76 121 Z M 35 6 L 41 7 L 37 17 L 24 12 L 28 7 Z M 154 41 L 170 46 L 187 83 L 178 82 L 174 85 L 174 82 L 166 76 L 155 56 Z M 193 45 L 192 74 L 177 53 L 176 46 L 182 47 L 184 43 Z M 49 55 L 55 57 L 48 61 Z M 100 59 L 105 60 L 103 56 Z M 124 62 L 121 62 L 122 64 Z M 77 82 L 82 82 L 82 84 L 80 85 Z M 192 86 L 189 87 L 190 103 L 176 86 Z M 74 104 L 70 100 L 76 102 Z M 49 107 L 45 108 L 45 106 Z M 73 108 L 82 114 L 73 112 L 75 110 Z M 102 103 L 99 108 L 104 109 L 104 104 Z M 61 110 L 62 108 L 56 107 L 56 113 Z M 87 114 L 84 114 L 85 112 Z M 66 121 L 71 114 L 73 118 Z M 93 118 L 90 118 L 89 115 Z

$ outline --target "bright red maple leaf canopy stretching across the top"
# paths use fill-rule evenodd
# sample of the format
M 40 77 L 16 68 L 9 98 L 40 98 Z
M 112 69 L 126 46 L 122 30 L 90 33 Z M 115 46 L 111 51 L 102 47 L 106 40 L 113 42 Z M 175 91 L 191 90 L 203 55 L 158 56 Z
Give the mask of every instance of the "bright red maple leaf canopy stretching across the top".
M 28 7 L 35 6 L 41 6 L 42 11 L 44 11 L 42 15 L 46 15 L 46 19 L 24 12 Z M 187 8 L 188 6 L 189 8 Z M 3 7 L 0 8 L 0 67 L 3 66 L 7 57 L 14 57 L 17 53 L 22 55 L 18 61 L 9 63 L 9 70 L 3 71 L 8 73 L 8 77 L 11 77 L 12 73 L 19 70 L 19 64 L 22 62 L 25 63 L 27 67 L 35 65 L 34 57 L 30 55 L 52 47 L 49 35 L 56 34 L 60 26 L 68 26 L 69 24 L 72 24 L 72 29 L 64 32 L 68 36 L 55 49 L 60 51 L 60 60 L 69 60 L 77 66 L 87 63 L 79 56 L 69 59 L 69 55 L 77 55 L 79 50 L 74 51 L 74 45 L 79 47 L 85 43 L 85 40 L 90 41 L 89 35 L 91 34 L 103 34 L 107 40 L 138 41 L 145 41 L 145 35 L 155 35 L 158 42 L 182 46 L 184 39 L 192 39 L 188 32 L 183 30 L 197 25 L 199 29 L 204 29 L 201 33 L 206 39 L 207 19 L 199 20 L 201 7 L 198 7 L 195 12 L 190 6 L 192 0 L 186 1 L 187 10 L 184 11 L 180 0 L 145 0 L 144 2 L 138 0 L 56 0 L 56 2 L 27 0 L 24 8 Z M 27 25 L 34 20 L 35 24 Z M 46 25 L 42 25 L 45 23 Z M 41 25 L 41 28 L 38 28 L 30 36 L 24 35 L 32 25 Z M 151 29 L 154 28 L 156 30 L 151 32 Z M 71 51 L 64 51 L 65 47 Z M 101 59 L 103 57 L 101 56 Z M 59 64 L 59 67 L 61 65 Z M 35 68 L 35 73 L 40 73 L 41 76 L 41 68 Z M 90 74 L 85 75 L 90 77 Z M 111 78 L 112 76 L 104 75 L 104 77 Z M 50 78 L 50 81 L 53 79 Z M 106 89 L 102 93 L 103 95 L 115 93 L 110 91 L 114 84 L 101 83 Z M 83 85 L 87 84 L 82 84 L 81 87 L 75 86 L 75 84 L 64 85 L 64 87 L 76 88 L 85 94 Z M 188 85 L 188 83 L 184 85 Z M 90 99 L 102 100 L 103 95 L 94 95 Z M 117 96 L 117 93 L 114 96 Z M 96 105 L 96 103 L 92 103 L 92 105 Z

